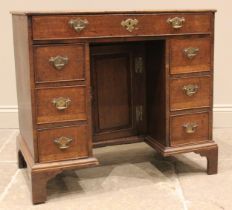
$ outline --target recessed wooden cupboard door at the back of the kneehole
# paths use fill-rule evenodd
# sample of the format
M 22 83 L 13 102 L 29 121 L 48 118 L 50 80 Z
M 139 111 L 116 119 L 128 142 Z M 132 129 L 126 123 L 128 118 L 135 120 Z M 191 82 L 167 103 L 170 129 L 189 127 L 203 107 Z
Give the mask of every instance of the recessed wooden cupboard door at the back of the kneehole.
M 137 134 L 133 48 L 130 45 L 93 47 L 91 71 L 95 141 Z

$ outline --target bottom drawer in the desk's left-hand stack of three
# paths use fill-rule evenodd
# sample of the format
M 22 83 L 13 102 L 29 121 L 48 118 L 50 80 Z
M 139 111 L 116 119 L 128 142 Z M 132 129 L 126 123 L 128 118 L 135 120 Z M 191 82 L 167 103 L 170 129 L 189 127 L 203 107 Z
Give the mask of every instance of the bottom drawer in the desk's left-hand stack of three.
M 38 131 L 39 162 L 88 156 L 87 126 Z

